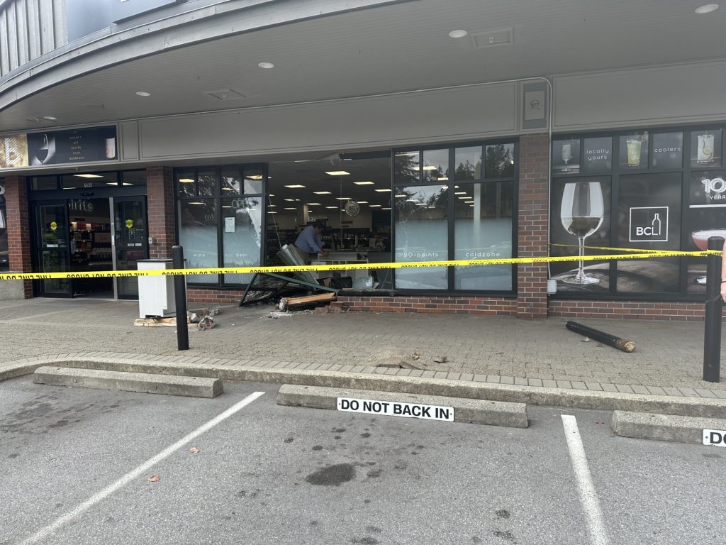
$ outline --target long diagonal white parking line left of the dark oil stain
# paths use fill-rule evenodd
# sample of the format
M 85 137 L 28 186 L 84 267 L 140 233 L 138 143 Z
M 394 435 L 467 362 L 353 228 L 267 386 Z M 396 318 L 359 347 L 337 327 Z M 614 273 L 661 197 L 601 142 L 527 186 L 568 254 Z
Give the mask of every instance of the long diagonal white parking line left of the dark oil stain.
M 87 509 L 90 509 L 91 506 L 94 506 L 99 501 L 102 501 L 107 496 L 110 496 L 115 491 L 117 491 L 119 488 L 130 483 L 132 480 L 139 478 L 144 472 L 147 472 L 148 469 L 155 466 L 163 459 L 168 458 L 175 451 L 178 451 L 179 448 L 183 447 L 187 443 L 190 443 L 192 440 L 195 440 L 196 437 L 199 437 L 204 432 L 209 431 L 210 429 L 215 427 L 217 424 L 219 424 L 221 421 L 228 419 L 234 413 L 236 413 L 237 411 L 240 411 L 240 409 L 244 408 L 246 405 L 249 405 L 250 403 L 252 403 L 254 400 L 256 400 L 261 395 L 264 395 L 264 393 L 265 392 L 254 392 L 253 394 L 250 394 L 247 397 L 245 397 L 245 399 L 243 399 L 239 403 L 235 403 L 234 405 L 232 405 L 232 407 L 228 408 L 227 411 L 224 411 L 224 413 L 221 413 L 221 414 L 215 416 L 213 419 L 208 421 L 206 424 L 202 424 L 200 427 L 195 429 L 189 435 L 182 437 L 180 440 L 178 440 L 176 443 L 174 443 L 174 445 L 171 445 L 171 446 L 165 448 L 163 451 L 158 453 L 153 458 L 145 461 L 139 467 L 136 467 L 136 469 L 134 469 L 133 471 L 126 473 L 126 475 L 123 475 L 123 477 L 121 477 L 121 479 L 117 480 L 112 485 L 107 486 L 99 493 L 94 494 L 89 499 L 84 501 L 82 504 L 77 506 L 75 509 L 72 509 L 68 513 L 61 515 L 56 520 L 54 520 L 54 522 L 51 522 L 45 528 L 38 530 L 32 536 L 25 539 L 25 541 L 21 541 L 20 545 L 28 545 L 28 544 L 37 543 L 41 539 L 49 536 L 55 530 L 60 528 L 62 525 L 65 525 L 68 522 L 70 522 L 71 520 L 73 520 L 74 518 L 78 517 L 79 514 L 83 513 Z

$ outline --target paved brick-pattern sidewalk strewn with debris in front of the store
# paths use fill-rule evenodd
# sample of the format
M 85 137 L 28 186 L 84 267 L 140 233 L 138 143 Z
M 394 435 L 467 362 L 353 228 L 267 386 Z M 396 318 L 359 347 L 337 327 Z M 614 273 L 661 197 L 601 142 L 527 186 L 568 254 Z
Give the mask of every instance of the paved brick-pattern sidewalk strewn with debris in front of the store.
M 136 302 L 94 299 L 0 302 L 0 369 L 104 352 L 168 365 L 214 360 L 252 368 L 726 398 L 725 380 L 701 381 L 703 323 L 697 322 L 580 320 L 635 341 L 635 352 L 627 354 L 584 342 L 560 319 L 375 312 L 273 318 L 269 305 L 224 307 L 216 328 L 190 329 L 190 350 L 178 352 L 174 328 L 133 326 L 137 309 Z

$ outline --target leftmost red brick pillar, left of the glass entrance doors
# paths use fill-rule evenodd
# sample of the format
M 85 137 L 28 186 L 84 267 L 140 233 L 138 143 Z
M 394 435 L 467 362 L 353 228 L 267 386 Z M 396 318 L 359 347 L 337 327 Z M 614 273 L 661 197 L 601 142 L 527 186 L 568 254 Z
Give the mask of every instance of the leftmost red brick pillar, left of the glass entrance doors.
M 31 273 L 28 183 L 24 176 L 5 178 L 5 211 L 10 270 L 14 273 Z M 25 299 L 33 297 L 33 280 L 23 280 L 23 294 Z

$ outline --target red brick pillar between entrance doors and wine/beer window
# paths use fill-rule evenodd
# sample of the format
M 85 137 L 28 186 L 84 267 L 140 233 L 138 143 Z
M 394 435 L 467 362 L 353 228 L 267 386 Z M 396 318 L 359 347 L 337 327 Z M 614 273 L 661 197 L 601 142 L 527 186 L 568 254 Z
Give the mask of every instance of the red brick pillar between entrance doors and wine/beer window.
M 174 177 L 168 166 L 146 169 L 147 211 L 149 236 L 155 243 L 149 246 L 151 259 L 171 259 L 171 246 L 176 244 L 174 233 Z

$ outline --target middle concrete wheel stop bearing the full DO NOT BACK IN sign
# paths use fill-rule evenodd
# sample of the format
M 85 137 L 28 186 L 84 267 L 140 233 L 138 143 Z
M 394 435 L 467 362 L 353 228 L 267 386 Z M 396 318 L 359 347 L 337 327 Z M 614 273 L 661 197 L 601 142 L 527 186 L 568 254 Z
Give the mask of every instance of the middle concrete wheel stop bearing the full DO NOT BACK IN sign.
M 514 428 L 526 428 L 529 426 L 529 421 L 527 420 L 527 405 L 524 403 L 471 400 L 462 397 L 403 394 L 398 392 L 371 392 L 370 390 L 359 389 L 282 384 L 279 392 L 277 392 L 277 405 L 337 409 L 338 397 L 453 407 L 455 422 Z

